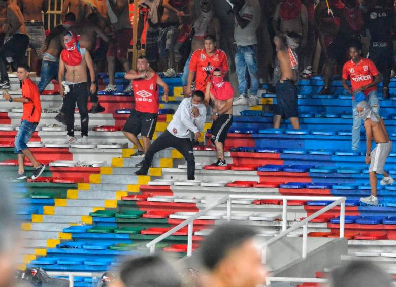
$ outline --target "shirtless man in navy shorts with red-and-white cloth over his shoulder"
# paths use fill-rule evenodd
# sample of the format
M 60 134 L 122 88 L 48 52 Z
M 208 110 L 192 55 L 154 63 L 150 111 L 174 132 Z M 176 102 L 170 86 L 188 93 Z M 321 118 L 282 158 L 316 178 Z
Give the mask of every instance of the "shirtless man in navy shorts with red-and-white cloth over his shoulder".
M 291 35 L 291 34 L 289 34 Z M 299 111 L 297 106 L 297 69 L 298 62 L 291 45 L 296 42 L 287 35 L 276 35 L 274 43 L 277 52 L 277 66 L 280 70 L 280 80 L 276 83 L 277 105 L 274 111 L 274 129 L 279 129 L 282 117 L 289 118 L 293 129 L 300 130 Z M 275 68 L 277 70 L 277 68 Z M 274 73 L 275 74 L 275 73 Z M 274 76 L 275 77 L 275 76 Z

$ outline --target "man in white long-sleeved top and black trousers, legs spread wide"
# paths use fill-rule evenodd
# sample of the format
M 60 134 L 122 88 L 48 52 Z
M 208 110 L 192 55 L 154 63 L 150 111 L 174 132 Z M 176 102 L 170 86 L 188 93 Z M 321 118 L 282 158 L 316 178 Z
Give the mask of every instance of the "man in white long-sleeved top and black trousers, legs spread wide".
M 191 133 L 195 140 L 200 138 L 200 131 L 204 130 L 206 119 L 205 95 L 202 91 L 194 91 L 191 98 L 184 98 L 180 103 L 167 130 L 156 139 L 143 160 L 142 167 L 135 175 L 147 175 L 154 154 L 160 150 L 173 147 L 177 149 L 187 161 L 187 179 L 195 179 L 195 159 L 192 151 Z

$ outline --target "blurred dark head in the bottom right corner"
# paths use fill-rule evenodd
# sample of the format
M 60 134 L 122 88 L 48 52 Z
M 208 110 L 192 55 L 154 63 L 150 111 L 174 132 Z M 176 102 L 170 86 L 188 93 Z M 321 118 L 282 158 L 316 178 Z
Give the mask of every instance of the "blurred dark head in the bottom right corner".
M 369 261 L 356 261 L 335 269 L 329 278 L 331 287 L 391 287 L 389 274 Z

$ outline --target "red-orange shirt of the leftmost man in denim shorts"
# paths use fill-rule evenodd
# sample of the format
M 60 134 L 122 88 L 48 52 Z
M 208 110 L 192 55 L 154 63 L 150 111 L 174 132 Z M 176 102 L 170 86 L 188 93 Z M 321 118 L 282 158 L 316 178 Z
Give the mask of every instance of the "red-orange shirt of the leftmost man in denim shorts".
M 21 120 L 39 122 L 41 116 L 39 88 L 30 78 L 22 82 L 22 97 L 29 99 L 29 102 L 23 103 L 23 115 Z

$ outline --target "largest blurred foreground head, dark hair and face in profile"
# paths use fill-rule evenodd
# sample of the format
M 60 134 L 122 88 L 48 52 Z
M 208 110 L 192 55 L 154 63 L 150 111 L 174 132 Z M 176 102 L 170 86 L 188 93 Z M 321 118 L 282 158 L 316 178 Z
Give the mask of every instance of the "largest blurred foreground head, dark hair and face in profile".
M 256 287 L 266 282 L 261 249 L 250 227 L 218 226 L 201 246 L 202 264 L 207 269 L 205 286 Z

